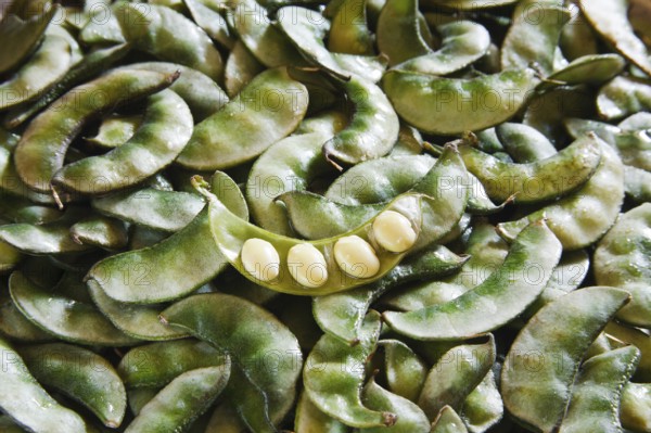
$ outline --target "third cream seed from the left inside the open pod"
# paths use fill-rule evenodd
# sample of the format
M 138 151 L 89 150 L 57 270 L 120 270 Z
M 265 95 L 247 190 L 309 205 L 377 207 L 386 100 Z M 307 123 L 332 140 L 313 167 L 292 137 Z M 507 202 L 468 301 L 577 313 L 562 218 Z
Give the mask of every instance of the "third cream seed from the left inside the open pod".
M 334 259 L 339 267 L 356 278 L 370 278 L 380 270 L 380 259 L 373 247 L 358 235 L 340 239 L 334 244 Z

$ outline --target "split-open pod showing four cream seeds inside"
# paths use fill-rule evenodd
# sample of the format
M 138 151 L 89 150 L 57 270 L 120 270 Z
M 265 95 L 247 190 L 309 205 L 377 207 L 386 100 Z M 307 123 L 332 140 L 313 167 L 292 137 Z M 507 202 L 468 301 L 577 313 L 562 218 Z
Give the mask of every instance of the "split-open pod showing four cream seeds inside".
M 232 214 L 207 191 L 208 218 L 219 251 L 247 279 L 298 295 L 324 295 L 382 278 L 400 263 L 421 231 L 422 194 L 405 193 L 374 218 L 339 237 L 303 241 L 271 233 Z M 382 224 L 387 217 L 399 224 Z

